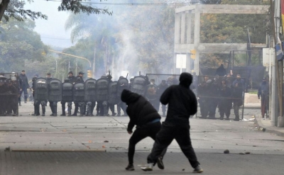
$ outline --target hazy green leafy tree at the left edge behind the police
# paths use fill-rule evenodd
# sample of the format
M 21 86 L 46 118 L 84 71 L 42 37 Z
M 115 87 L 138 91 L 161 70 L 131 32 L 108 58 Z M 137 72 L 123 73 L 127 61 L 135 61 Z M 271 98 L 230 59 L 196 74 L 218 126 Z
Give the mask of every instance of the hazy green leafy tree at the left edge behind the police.
M 48 50 L 35 33 L 35 22 L 2 22 L 0 27 L 0 69 L 3 72 L 20 72 L 29 62 L 43 62 L 42 54 Z

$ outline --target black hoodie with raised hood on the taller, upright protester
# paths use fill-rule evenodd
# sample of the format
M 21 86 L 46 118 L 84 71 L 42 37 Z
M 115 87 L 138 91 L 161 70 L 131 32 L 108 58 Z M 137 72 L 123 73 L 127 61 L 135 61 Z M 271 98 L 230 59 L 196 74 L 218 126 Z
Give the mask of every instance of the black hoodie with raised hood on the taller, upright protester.
M 197 100 L 190 84 L 192 75 L 184 72 L 180 74 L 180 84 L 170 86 L 160 97 L 160 103 L 168 104 L 165 123 L 188 125 L 190 115 L 197 113 Z

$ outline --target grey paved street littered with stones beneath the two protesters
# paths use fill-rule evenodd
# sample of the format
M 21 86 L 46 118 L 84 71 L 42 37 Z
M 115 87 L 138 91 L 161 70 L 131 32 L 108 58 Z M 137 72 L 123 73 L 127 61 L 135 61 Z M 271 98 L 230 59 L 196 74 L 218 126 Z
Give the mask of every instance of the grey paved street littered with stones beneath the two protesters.
M 128 117 L 34 117 L 31 102 L 23 103 L 19 112 L 17 117 L 1 117 L 0 174 L 188 174 L 192 171 L 175 141 L 165 156 L 165 170 L 141 171 L 139 166 L 146 163 L 153 146 L 150 138 L 136 146 L 136 171 L 125 171 L 130 137 L 126 132 Z M 258 130 L 252 118 L 257 113 L 258 109 L 246 109 L 241 121 L 190 119 L 192 145 L 204 174 L 282 174 L 284 138 Z M 229 149 L 230 154 L 224 154 L 224 149 Z M 240 154 L 245 152 L 250 154 Z

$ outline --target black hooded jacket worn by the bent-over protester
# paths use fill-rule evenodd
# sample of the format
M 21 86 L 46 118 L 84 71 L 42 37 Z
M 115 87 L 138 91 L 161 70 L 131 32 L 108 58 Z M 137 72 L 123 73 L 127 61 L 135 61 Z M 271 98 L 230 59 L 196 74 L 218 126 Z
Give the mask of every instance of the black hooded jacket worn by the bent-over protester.
M 121 93 L 121 101 L 128 105 L 126 109 L 126 113 L 130 118 L 128 131 L 132 132 L 134 125 L 141 127 L 155 119 L 160 119 L 160 115 L 155 108 L 141 95 L 124 89 Z

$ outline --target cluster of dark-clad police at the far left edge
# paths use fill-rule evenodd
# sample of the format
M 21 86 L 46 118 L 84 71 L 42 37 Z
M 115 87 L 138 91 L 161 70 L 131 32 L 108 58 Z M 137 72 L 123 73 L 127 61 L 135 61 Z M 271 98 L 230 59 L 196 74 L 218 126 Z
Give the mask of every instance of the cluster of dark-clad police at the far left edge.
M 18 115 L 18 74 L 0 74 L 0 115 Z

